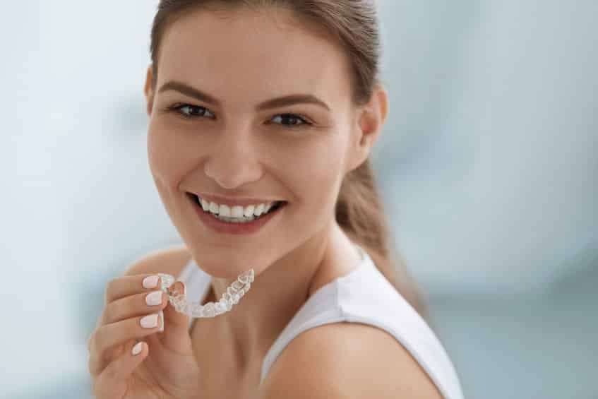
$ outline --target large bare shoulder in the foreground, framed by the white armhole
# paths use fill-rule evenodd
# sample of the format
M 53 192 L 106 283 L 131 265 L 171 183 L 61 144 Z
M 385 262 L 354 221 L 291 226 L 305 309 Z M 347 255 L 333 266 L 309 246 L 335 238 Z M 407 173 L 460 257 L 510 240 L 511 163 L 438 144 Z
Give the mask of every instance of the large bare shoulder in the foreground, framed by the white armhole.
M 332 323 L 297 335 L 268 372 L 260 399 L 442 399 L 394 337 L 362 323 Z

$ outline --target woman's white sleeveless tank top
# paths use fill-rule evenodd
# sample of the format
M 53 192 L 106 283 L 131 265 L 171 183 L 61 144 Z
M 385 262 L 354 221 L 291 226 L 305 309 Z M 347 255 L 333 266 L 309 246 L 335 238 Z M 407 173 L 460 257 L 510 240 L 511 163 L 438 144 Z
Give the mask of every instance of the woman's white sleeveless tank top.
M 444 347 L 424 318 L 401 296 L 376 268 L 369 254 L 357 245 L 361 263 L 349 274 L 323 285 L 301 306 L 266 353 L 262 383 L 278 355 L 299 333 L 309 328 L 340 321 L 365 323 L 393 335 L 430 376 L 444 399 L 462 399 L 462 389 Z M 259 278 L 259 277 L 256 277 Z M 210 290 L 211 276 L 193 258 L 178 280 L 186 285 L 193 302 L 203 301 Z M 189 320 L 189 327 L 193 318 Z

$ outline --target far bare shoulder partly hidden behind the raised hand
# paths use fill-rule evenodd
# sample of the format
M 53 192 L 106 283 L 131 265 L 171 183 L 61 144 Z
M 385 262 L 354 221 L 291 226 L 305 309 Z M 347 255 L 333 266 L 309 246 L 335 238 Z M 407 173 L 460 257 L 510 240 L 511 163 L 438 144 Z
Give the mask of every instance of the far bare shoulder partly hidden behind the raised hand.
M 129 266 L 124 275 L 144 273 L 168 273 L 175 277 L 191 260 L 191 252 L 184 244 L 175 244 L 151 251 Z

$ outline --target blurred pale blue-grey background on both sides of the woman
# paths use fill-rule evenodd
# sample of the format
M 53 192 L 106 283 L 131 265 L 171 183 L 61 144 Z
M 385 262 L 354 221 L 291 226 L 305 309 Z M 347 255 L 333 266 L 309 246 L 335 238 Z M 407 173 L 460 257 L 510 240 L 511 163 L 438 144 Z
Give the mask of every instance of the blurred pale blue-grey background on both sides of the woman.
M 378 3 L 373 162 L 466 398 L 598 398 L 598 3 Z M 145 146 L 156 4 L 2 6 L 1 398 L 89 398 L 107 280 L 181 242 Z

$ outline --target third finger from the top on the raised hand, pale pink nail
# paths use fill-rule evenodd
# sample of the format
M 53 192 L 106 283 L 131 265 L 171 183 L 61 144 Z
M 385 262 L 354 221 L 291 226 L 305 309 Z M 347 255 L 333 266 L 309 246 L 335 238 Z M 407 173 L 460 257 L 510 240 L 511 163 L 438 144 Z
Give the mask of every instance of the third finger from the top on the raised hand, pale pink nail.
M 152 327 L 148 321 L 155 321 L 157 325 Z M 142 322 L 148 327 L 143 327 Z M 160 317 L 154 313 L 128 318 L 97 328 L 90 343 L 90 374 L 99 374 L 109 362 L 121 355 L 121 352 L 116 350 L 117 345 L 124 345 L 128 340 L 156 333 L 161 325 Z

